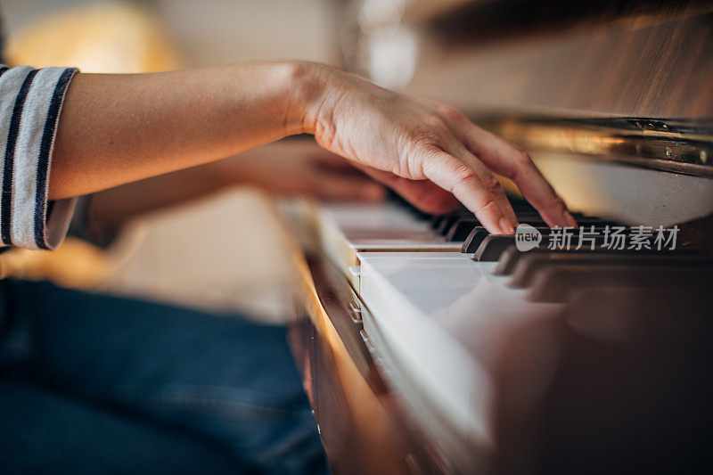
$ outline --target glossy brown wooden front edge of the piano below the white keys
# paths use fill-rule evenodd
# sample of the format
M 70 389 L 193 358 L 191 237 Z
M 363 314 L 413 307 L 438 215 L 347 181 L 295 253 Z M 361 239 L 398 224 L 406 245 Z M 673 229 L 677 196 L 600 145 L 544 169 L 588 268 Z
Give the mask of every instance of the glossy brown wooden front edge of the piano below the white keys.
M 291 325 L 291 348 L 332 471 L 439 473 L 357 337 L 347 280 L 320 256 L 302 270 L 305 306 Z

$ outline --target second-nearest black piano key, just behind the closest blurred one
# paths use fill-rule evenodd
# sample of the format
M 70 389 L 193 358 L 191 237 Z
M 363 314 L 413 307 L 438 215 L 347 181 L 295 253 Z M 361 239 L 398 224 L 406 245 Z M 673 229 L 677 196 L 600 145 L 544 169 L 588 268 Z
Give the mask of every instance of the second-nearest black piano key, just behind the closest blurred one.
M 665 252 L 665 251 L 664 251 Z M 593 266 L 711 266 L 710 257 L 696 255 L 668 255 L 610 251 L 610 252 L 574 252 L 574 253 L 539 253 L 523 256 L 512 271 L 508 286 L 514 289 L 529 287 L 535 275 L 546 266 L 593 265 Z

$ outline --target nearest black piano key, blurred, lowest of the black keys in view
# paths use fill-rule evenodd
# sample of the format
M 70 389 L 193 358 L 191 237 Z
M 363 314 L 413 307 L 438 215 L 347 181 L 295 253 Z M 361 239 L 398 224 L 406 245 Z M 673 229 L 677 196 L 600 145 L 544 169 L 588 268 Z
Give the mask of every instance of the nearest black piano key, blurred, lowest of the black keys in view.
M 566 302 L 574 291 L 592 286 L 648 288 L 675 286 L 706 289 L 713 286 L 713 266 L 546 266 L 538 272 L 528 299 Z

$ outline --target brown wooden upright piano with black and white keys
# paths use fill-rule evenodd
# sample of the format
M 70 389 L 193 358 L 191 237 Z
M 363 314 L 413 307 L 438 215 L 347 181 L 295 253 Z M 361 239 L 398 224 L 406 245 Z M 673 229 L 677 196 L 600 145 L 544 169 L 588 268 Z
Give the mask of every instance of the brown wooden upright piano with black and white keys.
M 406 5 L 406 90 L 520 144 L 578 227 L 506 181 L 514 236 L 308 207 L 291 345 L 332 470 L 710 471 L 713 5 Z

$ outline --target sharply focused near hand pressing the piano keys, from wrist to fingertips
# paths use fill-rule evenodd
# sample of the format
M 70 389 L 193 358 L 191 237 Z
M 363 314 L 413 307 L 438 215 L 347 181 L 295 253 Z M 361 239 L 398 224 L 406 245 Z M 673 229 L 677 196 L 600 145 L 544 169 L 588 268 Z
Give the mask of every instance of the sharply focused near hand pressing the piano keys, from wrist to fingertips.
M 414 186 L 430 190 L 432 185 L 413 181 L 429 180 L 453 193 L 491 233 L 513 233 L 517 219 L 494 171 L 517 184 L 547 224 L 576 225 L 527 153 L 460 112 L 326 66 L 309 68 L 308 82 L 320 92 L 307 105 L 304 129 L 416 206 L 428 208 L 434 192 L 414 193 Z

